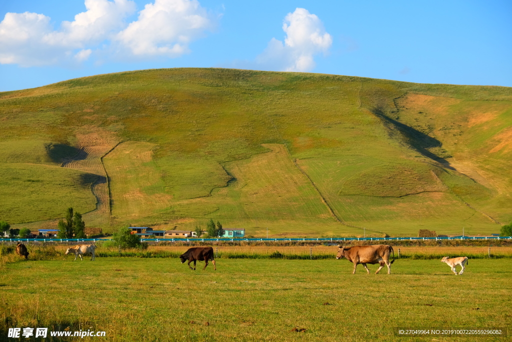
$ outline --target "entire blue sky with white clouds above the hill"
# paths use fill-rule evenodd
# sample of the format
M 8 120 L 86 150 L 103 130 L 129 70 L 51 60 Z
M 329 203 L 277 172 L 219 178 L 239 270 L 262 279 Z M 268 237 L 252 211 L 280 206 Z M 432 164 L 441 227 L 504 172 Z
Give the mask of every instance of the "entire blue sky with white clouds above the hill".
M 0 19 L 0 91 L 175 67 L 512 86 L 508 0 L 3 0 Z

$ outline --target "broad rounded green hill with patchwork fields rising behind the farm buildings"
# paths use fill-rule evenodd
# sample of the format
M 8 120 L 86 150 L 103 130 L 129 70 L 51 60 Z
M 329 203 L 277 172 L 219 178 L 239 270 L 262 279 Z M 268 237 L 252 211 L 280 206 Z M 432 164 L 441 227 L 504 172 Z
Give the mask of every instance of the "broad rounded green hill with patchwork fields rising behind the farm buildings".
M 489 234 L 512 220 L 512 88 L 159 69 L 0 93 L 0 219 L 263 236 Z M 92 190 L 92 191 L 91 191 Z

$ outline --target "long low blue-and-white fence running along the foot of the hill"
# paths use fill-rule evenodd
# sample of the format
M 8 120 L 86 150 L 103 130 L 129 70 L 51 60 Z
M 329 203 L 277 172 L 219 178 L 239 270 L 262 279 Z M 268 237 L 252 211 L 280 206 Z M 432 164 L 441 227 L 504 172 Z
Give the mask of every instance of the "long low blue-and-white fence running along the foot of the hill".
M 0 241 L 6 242 L 97 242 L 97 241 L 111 241 L 111 238 L 98 238 L 98 239 L 59 239 L 59 238 L 0 238 Z M 402 240 L 512 240 L 512 236 L 452 236 L 452 237 L 280 237 L 280 238 L 265 238 L 265 237 L 242 237 L 242 238 L 141 238 L 142 242 L 277 242 L 277 241 L 293 241 L 293 242 L 325 242 L 335 243 L 344 241 L 402 241 Z

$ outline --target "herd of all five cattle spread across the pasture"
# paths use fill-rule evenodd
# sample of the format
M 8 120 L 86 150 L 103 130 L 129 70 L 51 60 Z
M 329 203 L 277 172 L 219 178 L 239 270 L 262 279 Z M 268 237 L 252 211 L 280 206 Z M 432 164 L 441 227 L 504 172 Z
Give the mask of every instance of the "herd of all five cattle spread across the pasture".
M 66 250 L 66 255 L 72 253 L 75 254 L 75 260 L 78 256 L 83 261 L 82 255 L 91 255 L 91 260 L 96 259 L 96 246 L 95 245 L 76 245 L 74 247 L 68 248 Z M 16 253 L 19 256 L 25 257 L 28 259 L 29 252 L 27 247 L 24 244 L 16 245 Z M 393 260 L 390 261 L 390 256 L 393 254 Z M 214 269 L 217 270 L 214 260 L 214 249 L 211 247 L 192 247 L 189 248 L 185 253 L 180 256 L 181 263 L 183 264 L 188 260 L 188 268 L 191 270 L 196 269 L 196 261 L 204 261 L 205 265 L 203 270 L 208 266 L 208 261 L 211 260 L 212 264 L 214 264 Z M 391 274 L 391 264 L 395 262 L 395 252 L 393 251 L 393 247 L 389 245 L 371 245 L 371 246 L 352 246 L 345 247 L 338 245 L 338 254 L 336 255 L 336 259 L 346 258 L 354 264 L 354 271 L 352 274 L 355 274 L 355 269 L 357 265 L 362 264 L 365 267 L 368 274 L 370 274 L 370 270 L 366 266 L 366 264 L 379 264 L 379 268 L 375 272 L 375 274 L 379 273 L 379 271 L 386 265 L 388 267 L 388 274 Z M 190 266 L 190 263 L 194 261 L 194 268 Z M 445 256 L 441 259 L 441 263 L 446 263 L 452 271 L 457 274 L 462 274 L 465 269 L 465 265 L 468 264 L 467 257 L 461 256 L 458 258 L 450 258 Z M 462 269 L 457 273 L 455 267 L 460 265 Z

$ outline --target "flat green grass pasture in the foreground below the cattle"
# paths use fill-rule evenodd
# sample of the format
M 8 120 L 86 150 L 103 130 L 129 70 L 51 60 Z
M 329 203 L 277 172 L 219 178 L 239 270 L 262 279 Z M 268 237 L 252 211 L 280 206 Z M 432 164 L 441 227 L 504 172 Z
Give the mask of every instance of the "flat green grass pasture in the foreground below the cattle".
M 28 326 L 106 331 L 84 340 L 392 341 L 403 340 L 397 327 L 510 332 L 508 264 L 474 259 L 455 276 L 439 260 L 397 260 L 391 275 L 361 266 L 352 275 L 335 259 L 219 258 L 217 271 L 202 263 L 191 271 L 177 258 L 17 261 L 0 276 L 1 333 Z M 454 340 L 408 338 L 433 339 Z

